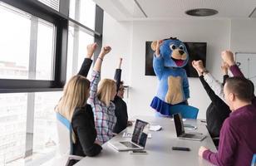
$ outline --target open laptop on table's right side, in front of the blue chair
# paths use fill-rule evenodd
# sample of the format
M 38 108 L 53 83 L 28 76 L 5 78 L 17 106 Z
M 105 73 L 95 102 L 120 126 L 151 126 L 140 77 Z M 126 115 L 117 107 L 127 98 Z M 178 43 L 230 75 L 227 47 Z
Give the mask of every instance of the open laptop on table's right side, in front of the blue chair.
M 185 133 L 182 117 L 180 113 L 173 115 L 175 120 L 175 130 L 179 139 L 190 139 L 190 140 L 203 140 L 206 135 L 203 134 L 189 134 Z

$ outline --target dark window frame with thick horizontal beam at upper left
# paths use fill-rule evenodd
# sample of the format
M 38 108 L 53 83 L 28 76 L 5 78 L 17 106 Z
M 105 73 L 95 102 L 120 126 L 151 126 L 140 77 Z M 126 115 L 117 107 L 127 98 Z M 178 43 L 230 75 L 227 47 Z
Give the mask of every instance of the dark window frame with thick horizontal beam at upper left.
M 12 7 L 32 14 L 34 17 L 41 18 L 47 22 L 52 22 L 56 26 L 56 42 L 53 57 L 52 81 L 41 80 L 21 80 L 21 79 L 1 79 L 0 93 L 17 93 L 17 92 L 41 92 L 41 91 L 60 91 L 66 83 L 66 61 L 67 61 L 67 41 L 69 22 L 79 27 L 95 37 L 98 43 L 96 55 L 101 51 L 102 45 L 102 27 L 103 27 L 103 10 L 96 5 L 96 22 L 95 31 L 84 26 L 80 22 L 68 17 L 69 0 L 60 1 L 59 12 L 48 7 L 42 2 L 35 0 L 1 0 Z M 99 19 L 101 18 L 101 19 Z M 96 57 L 95 57 L 96 58 Z M 31 59 L 29 61 L 32 61 Z

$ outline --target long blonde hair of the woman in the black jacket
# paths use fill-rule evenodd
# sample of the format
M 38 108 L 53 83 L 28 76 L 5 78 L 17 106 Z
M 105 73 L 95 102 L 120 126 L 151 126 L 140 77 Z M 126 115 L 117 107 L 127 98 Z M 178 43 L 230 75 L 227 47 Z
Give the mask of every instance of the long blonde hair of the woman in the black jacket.
M 55 111 L 71 122 L 76 107 L 86 105 L 89 96 L 90 81 L 84 76 L 72 76 L 63 90 L 62 99 L 59 100 Z

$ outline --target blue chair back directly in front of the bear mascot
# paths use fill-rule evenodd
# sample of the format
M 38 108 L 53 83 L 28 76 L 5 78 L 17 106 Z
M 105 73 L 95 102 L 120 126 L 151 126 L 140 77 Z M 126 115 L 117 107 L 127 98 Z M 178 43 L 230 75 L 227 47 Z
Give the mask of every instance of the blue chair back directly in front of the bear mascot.
M 182 118 L 196 120 L 198 111 L 199 111 L 198 108 L 195 108 L 194 106 L 190 106 L 190 105 L 173 105 L 170 109 L 170 114 L 174 115 L 174 114 L 180 113 Z

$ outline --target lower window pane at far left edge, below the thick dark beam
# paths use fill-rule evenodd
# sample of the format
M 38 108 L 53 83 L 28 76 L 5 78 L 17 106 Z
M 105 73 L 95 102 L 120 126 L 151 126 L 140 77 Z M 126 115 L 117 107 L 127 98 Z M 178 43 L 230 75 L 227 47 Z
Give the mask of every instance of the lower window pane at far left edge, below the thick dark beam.
M 26 121 L 27 94 L 0 94 L 0 165 L 24 157 Z

